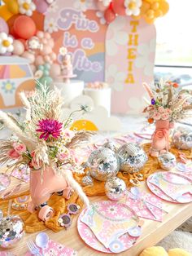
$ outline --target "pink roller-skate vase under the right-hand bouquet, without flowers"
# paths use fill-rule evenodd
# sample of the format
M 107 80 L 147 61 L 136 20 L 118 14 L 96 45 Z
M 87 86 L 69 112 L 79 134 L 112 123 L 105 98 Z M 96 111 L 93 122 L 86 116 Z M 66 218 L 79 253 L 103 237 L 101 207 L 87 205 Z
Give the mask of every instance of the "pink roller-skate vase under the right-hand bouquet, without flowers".
M 152 135 L 152 143 L 150 154 L 152 157 L 159 157 L 160 153 L 168 152 L 169 146 L 169 130 L 173 127 L 173 123 L 168 120 L 158 120 L 155 123 L 155 132 Z

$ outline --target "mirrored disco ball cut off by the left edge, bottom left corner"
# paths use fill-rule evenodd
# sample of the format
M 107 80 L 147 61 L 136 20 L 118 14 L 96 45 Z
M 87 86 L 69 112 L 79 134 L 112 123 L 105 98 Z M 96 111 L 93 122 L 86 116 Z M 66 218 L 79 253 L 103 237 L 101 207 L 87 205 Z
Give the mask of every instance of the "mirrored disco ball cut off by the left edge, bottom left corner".
M 19 216 L 9 216 L 0 221 L 0 247 L 12 248 L 24 236 L 24 223 Z

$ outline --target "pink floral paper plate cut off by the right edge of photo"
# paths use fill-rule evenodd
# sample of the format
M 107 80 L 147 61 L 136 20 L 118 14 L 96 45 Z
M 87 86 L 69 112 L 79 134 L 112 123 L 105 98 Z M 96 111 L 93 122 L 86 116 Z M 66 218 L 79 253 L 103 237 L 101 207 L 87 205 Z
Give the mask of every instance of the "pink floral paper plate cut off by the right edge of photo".
M 189 175 L 188 177 L 184 174 L 182 174 L 181 172 L 158 172 L 155 174 L 151 174 L 148 178 L 147 178 L 147 186 L 148 188 L 151 190 L 151 192 L 153 192 L 156 196 L 159 196 L 159 198 L 165 200 L 165 201 L 170 201 L 172 203 L 181 203 L 181 204 L 185 204 L 185 203 L 190 203 L 192 201 L 192 194 L 190 193 L 185 193 L 183 196 L 180 196 L 177 200 L 172 199 L 172 197 L 168 196 L 166 193 L 164 193 L 163 189 L 158 188 L 158 186 L 156 186 L 155 184 L 151 183 L 151 180 L 154 178 L 159 179 L 159 174 L 169 180 L 172 183 L 191 183 L 192 179 L 191 179 L 191 175 Z M 171 183 L 170 183 L 170 186 Z M 171 187 L 170 187 L 171 189 Z

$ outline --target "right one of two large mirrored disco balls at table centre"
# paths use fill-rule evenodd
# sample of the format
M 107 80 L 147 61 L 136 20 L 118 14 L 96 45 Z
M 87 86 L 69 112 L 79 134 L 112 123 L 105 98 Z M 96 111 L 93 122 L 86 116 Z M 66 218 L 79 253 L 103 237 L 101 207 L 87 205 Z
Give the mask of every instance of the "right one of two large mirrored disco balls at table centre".
M 142 169 L 148 157 L 146 152 L 137 143 L 128 143 L 118 150 L 120 157 L 120 170 L 130 174 Z

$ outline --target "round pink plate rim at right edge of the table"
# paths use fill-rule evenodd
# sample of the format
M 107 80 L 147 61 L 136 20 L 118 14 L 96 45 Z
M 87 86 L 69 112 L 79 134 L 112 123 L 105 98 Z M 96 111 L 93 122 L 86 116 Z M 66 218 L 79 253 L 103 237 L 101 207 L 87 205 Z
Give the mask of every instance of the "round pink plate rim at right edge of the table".
M 174 174 L 177 175 L 177 172 L 160 172 L 160 173 L 166 175 L 166 179 L 170 179 L 170 180 L 172 179 L 172 176 Z M 148 188 L 151 190 L 151 192 L 153 192 L 156 196 L 159 196 L 159 198 L 161 198 L 165 201 L 170 201 L 172 203 L 177 203 L 177 204 L 185 204 L 185 203 L 190 203 L 192 201 L 192 195 L 190 193 L 183 195 L 181 198 L 181 201 L 173 200 L 171 197 L 166 195 L 160 188 L 158 188 L 157 186 L 155 186 L 154 184 L 151 183 L 151 179 L 155 175 L 159 175 L 159 172 L 155 173 L 155 174 L 151 174 L 147 178 L 146 183 L 147 183 Z M 182 176 L 182 179 L 185 179 L 186 181 L 189 182 L 189 179 L 187 179 L 187 177 L 185 175 L 183 175 L 181 172 L 178 173 L 178 176 Z

